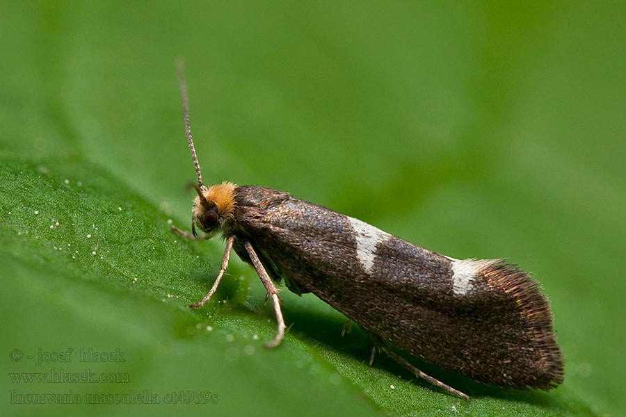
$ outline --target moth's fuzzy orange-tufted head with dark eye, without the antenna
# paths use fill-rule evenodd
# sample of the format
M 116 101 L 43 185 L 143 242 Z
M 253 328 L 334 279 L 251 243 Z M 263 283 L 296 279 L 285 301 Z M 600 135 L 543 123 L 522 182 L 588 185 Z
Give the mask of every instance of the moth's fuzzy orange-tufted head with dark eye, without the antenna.
M 198 236 L 195 227 L 203 231 L 210 238 L 222 227 L 222 224 L 233 217 L 235 185 L 224 181 L 209 188 L 196 187 L 198 197 L 193 200 L 191 208 L 191 230 L 193 236 Z

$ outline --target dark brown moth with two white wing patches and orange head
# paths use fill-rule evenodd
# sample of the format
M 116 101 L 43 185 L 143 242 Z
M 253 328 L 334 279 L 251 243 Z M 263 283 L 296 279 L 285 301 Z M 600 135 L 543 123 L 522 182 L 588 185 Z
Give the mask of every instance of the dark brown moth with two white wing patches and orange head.
M 485 384 L 549 390 L 563 381 L 552 311 L 538 282 L 504 259 L 454 259 L 406 242 L 361 220 L 283 191 L 230 182 L 202 182 L 189 124 L 188 92 L 178 67 L 186 136 L 198 186 L 192 208 L 207 238 L 226 240 L 214 294 L 232 250 L 251 263 L 271 297 L 278 333 L 284 319 L 274 282 L 302 295 L 314 293 L 357 323 L 376 348 L 445 391 L 469 397 L 426 375 L 403 350 Z

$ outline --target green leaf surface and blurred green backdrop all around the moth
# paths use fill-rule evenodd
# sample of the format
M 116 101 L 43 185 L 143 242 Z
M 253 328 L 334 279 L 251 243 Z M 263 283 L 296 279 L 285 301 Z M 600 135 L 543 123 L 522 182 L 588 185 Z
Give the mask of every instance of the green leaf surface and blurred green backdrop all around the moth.
M 625 13 L 621 1 L 4 1 L 2 414 L 622 414 Z M 239 259 L 189 311 L 223 243 L 168 231 L 188 229 L 195 178 L 177 56 L 206 183 L 289 191 L 456 258 L 508 256 L 552 302 L 563 385 L 507 391 L 421 365 L 463 402 L 384 355 L 369 367 L 360 330 L 342 338 L 339 313 L 288 291 L 289 334 L 264 350 L 275 318 Z M 81 362 L 90 348 L 125 361 Z M 83 404 L 27 404 L 34 393 Z

